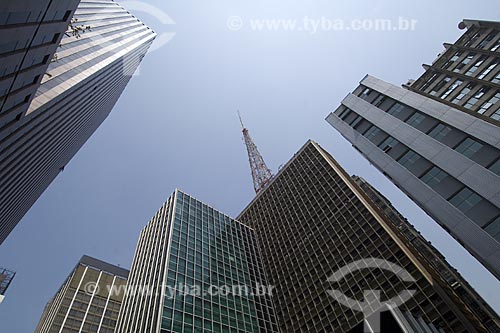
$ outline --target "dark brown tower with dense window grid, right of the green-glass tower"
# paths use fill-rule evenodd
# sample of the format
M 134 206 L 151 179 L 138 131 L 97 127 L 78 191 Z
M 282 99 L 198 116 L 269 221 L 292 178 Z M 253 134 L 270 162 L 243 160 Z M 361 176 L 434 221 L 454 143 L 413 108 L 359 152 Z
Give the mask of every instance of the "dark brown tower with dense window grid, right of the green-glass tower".
M 392 301 L 389 308 L 399 305 L 407 320 L 433 332 L 488 331 L 314 142 L 294 155 L 238 220 L 257 235 L 282 332 L 354 332 Z

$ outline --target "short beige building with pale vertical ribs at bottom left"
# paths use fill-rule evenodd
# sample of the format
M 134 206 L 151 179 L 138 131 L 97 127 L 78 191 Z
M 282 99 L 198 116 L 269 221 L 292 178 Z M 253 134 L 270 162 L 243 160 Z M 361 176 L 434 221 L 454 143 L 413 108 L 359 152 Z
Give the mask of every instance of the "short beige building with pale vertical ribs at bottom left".
M 45 307 L 36 333 L 112 333 L 128 270 L 83 256 Z

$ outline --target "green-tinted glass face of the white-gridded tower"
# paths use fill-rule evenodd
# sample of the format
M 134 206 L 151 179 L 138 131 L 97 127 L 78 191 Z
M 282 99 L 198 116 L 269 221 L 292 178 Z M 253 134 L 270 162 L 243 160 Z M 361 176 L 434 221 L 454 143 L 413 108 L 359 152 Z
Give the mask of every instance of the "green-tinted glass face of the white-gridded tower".
M 177 192 L 161 332 L 278 332 L 253 230 L 192 197 Z M 179 294 L 199 286 L 199 295 Z M 211 295 L 245 286 L 247 295 Z M 168 288 L 167 287 L 167 288 Z

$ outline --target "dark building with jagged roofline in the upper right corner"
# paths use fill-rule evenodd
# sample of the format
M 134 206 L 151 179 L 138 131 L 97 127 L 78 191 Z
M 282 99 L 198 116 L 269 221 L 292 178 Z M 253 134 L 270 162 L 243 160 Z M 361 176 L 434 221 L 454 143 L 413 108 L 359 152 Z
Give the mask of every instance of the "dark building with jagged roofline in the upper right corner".
M 481 119 L 500 121 L 500 22 L 464 20 L 467 31 L 405 87 Z

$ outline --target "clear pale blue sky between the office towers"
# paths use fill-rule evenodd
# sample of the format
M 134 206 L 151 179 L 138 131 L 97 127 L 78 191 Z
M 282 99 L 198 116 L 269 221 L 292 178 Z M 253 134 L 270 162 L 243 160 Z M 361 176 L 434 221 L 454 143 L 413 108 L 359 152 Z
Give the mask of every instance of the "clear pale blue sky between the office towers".
M 500 309 L 500 283 L 370 166 L 324 118 L 365 74 L 401 84 L 462 33 L 499 19 L 491 1 L 154 0 L 134 14 L 159 34 L 110 117 L 0 247 L 18 272 L 0 305 L 2 332 L 32 332 L 45 303 L 87 254 L 129 267 L 139 231 L 178 187 L 236 216 L 253 197 L 236 109 L 276 171 L 311 138 L 387 195 Z M 124 3 L 126 6 L 126 2 Z M 240 16 L 239 31 L 227 19 Z M 250 19 L 416 19 L 415 31 L 252 31 Z

